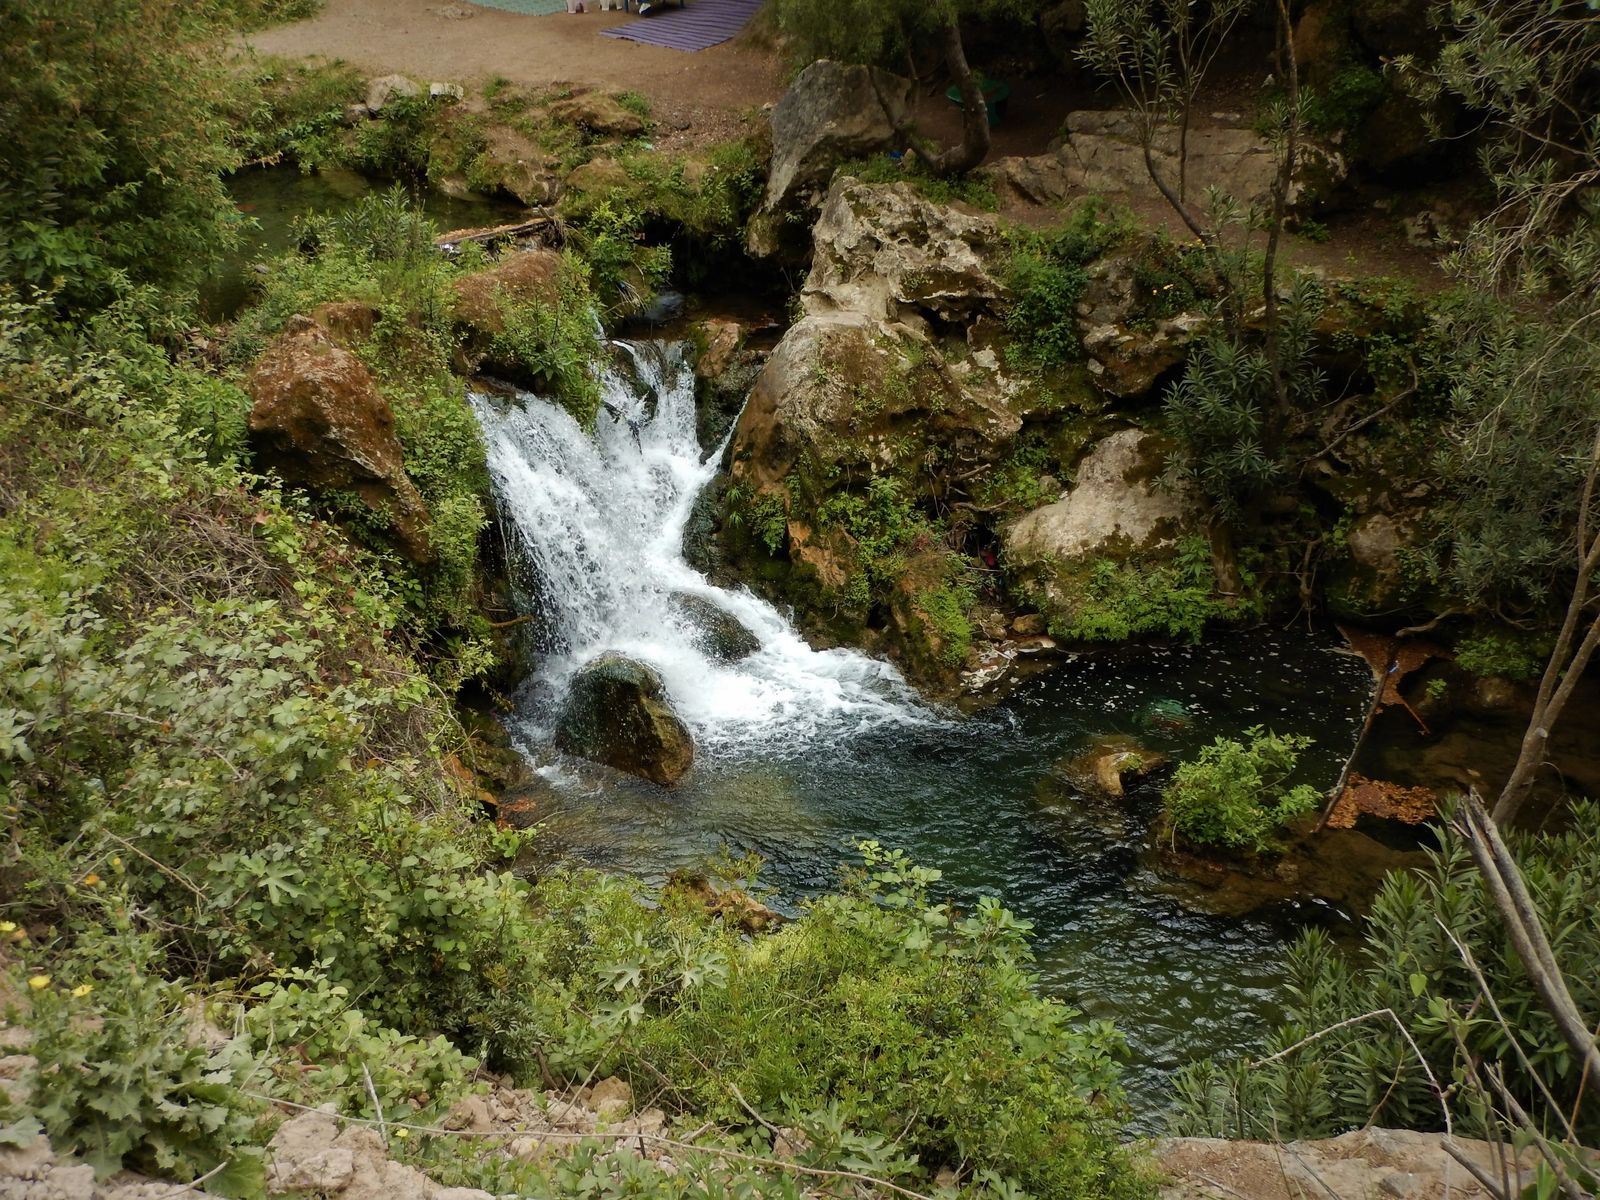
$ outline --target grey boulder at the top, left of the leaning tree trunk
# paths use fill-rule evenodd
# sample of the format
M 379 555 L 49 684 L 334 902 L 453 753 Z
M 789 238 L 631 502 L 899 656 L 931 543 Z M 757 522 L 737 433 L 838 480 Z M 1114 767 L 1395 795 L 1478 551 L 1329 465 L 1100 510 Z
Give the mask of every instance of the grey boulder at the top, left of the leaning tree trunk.
M 910 80 L 872 67 L 821 59 L 802 70 L 773 107 L 773 162 L 750 251 L 778 253 L 789 214 L 816 208 L 838 163 L 894 149 L 909 101 Z

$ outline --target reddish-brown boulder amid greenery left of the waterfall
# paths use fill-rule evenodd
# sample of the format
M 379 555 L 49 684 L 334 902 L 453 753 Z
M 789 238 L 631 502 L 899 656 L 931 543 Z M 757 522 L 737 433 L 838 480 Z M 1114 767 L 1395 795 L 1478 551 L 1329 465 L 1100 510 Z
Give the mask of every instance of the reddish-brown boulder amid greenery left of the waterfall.
M 310 317 L 291 317 L 250 376 L 256 466 L 286 483 L 354 494 L 410 560 L 432 560 L 429 512 L 405 474 L 389 402 L 366 366 Z

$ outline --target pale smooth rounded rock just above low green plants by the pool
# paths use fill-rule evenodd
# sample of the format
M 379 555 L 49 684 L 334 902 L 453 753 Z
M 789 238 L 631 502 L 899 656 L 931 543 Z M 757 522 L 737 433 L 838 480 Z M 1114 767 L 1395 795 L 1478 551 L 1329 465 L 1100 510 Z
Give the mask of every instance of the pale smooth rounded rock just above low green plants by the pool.
M 1006 557 L 1072 560 L 1109 549 L 1125 557 L 1170 546 L 1198 514 L 1198 501 L 1189 488 L 1157 486 L 1163 459 L 1155 434 L 1112 434 L 1083 459 L 1066 499 L 1034 509 L 1006 530 Z

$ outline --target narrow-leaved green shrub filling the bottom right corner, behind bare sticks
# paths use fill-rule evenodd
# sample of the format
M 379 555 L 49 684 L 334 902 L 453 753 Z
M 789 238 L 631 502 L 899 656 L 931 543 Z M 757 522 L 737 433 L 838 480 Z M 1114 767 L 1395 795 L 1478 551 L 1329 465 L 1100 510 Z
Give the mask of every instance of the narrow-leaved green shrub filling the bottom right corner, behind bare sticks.
M 1597 830 L 1600 811 L 1579 803 L 1566 832 L 1514 842 L 1555 960 L 1568 968 L 1566 984 L 1586 1013 L 1600 1010 L 1600 981 L 1587 970 L 1600 962 Z M 1528 981 L 1466 848 L 1451 840 L 1429 858 L 1427 870 L 1384 880 L 1354 954 L 1318 931 L 1302 934 L 1291 949 L 1288 1018 L 1266 1051 L 1330 1032 L 1254 1070 L 1240 1062 L 1186 1069 L 1178 1080 L 1179 1133 L 1290 1139 L 1366 1125 L 1443 1130 L 1432 1072 L 1451 1088 L 1456 1133 L 1485 1136 L 1488 1112 L 1462 1086 L 1470 1056 L 1504 1072 L 1528 1112 L 1552 1112 L 1541 1094 L 1549 1088 L 1554 1106 L 1576 1122 L 1578 1141 L 1595 1144 L 1600 1112 L 1574 1104 L 1582 1093 L 1581 1067 Z M 1462 947 L 1483 973 L 1504 1026 L 1485 1003 Z M 1392 1011 L 1405 1034 L 1389 1018 L 1333 1029 L 1376 1010 Z

